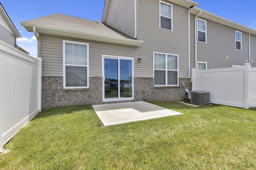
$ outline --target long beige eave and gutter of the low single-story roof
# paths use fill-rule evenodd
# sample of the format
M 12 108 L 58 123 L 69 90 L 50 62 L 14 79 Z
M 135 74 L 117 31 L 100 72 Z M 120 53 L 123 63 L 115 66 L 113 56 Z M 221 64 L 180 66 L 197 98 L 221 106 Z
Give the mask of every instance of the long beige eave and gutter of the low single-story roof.
M 75 31 L 70 29 L 62 29 L 56 27 L 50 27 L 45 25 L 31 24 L 26 22 L 21 22 L 21 25 L 26 28 L 27 31 L 33 32 L 33 27 L 36 27 L 37 33 L 49 34 L 49 35 L 58 35 L 70 38 L 78 38 L 78 39 L 86 39 L 90 41 L 98 41 L 104 43 L 114 43 L 114 44 L 122 44 L 128 46 L 138 47 L 143 41 L 136 39 L 128 39 L 121 37 L 113 37 L 108 35 L 101 35 L 95 33 L 86 33 L 82 31 Z

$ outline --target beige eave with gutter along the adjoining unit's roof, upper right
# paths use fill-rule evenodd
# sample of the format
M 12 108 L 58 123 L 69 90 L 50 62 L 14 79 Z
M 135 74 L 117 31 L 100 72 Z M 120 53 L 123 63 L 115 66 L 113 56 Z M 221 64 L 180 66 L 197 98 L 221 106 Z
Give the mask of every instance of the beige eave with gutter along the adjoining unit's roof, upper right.
M 196 14 L 198 14 L 199 11 L 201 11 L 200 16 L 198 16 L 199 18 L 203 18 L 203 19 L 206 19 L 206 20 L 211 20 L 211 21 L 220 23 L 222 25 L 226 25 L 228 27 L 232 27 L 234 29 L 238 29 L 240 31 L 244 31 L 246 33 L 250 33 L 252 35 L 256 35 L 256 29 L 252 29 L 252 28 L 246 27 L 244 25 L 241 25 L 241 24 L 236 23 L 234 21 L 230 21 L 230 20 L 228 20 L 226 18 L 222 18 L 220 16 L 217 16 L 215 14 L 212 14 L 210 12 L 207 12 L 207 11 L 202 10 L 200 8 L 197 8 L 197 7 L 194 7 L 193 10 L 191 10 L 190 14 L 196 15 Z

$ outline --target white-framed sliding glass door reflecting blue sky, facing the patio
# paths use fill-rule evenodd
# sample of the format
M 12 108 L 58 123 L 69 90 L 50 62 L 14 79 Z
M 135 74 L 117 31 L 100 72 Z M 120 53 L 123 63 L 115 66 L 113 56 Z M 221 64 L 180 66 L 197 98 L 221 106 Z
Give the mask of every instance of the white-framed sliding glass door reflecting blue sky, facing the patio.
M 103 100 L 133 99 L 132 59 L 104 57 Z

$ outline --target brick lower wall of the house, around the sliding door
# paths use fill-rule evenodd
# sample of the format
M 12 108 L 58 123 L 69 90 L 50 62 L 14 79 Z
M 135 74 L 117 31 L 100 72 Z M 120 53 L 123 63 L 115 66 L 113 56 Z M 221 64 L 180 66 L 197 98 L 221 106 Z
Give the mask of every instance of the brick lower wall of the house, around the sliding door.
M 122 101 L 170 101 L 184 100 L 184 89 L 191 90 L 190 78 L 179 78 L 180 86 L 154 87 L 154 78 L 134 77 L 134 100 Z M 119 101 L 118 101 L 119 102 Z M 64 89 L 63 76 L 42 76 L 42 109 L 82 104 L 105 104 L 102 102 L 102 77 L 89 77 L 89 88 Z

